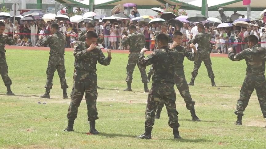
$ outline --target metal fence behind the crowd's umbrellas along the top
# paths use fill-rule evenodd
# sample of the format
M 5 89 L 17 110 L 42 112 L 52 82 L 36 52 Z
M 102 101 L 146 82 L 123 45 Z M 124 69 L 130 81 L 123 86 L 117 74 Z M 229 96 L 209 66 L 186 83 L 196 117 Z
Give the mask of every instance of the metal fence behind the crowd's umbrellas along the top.
M 73 12 L 76 11 L 75 7 L 73 7 L 73 5 L 65 4 L 65 3 L 58 3 L 58 2 L 55 2 L 54 0 L 42 0 L 42 4 L 37 4 L 36 0 L 23 0 L 23 1 L 26 1 L 26 6 L 24 6 L 26 9 L 37 9 L 38 5 L 42 5 L 42 12 L 43 13 L 55 13 L 55 14 L 57 14 L 57 12 L 60 11 L 60 8 L 65 8 L 65 7 L 68 8 L 69 13 L 71 11 L 73 11 Z M 14 2 L 21 4 L 21 0 L 0 0 L 0 8 L 5 6 L 6 8 L 11 9 L 11 6 Z M 159 6 L 149 6 L 149 9 L 144 9 L 143 7 L 144 6 L 138 6 L 138 11 L 139 11 L 140 15 L 157 16 L 157 13 L 155 11 L 151 10 L 150 8 L 159 7 Z M 169 5 L 169 7 L 171 7 L 171 5 Z M 20 8 L 22 8 L 21 5 L 20 5 Z M 70 10 L 71 8 L 73 10 Z M 186 10 L 187 16 L 189 16 L 189 17 L 194 16 L 197 13 L 198 14 L 201 13 L 201 11 L 189 10 L 190 8 L 191 8 L 191 6 L 182 6 L 181 10 Z M 82 10 L 82 12 L 90 11 L 89 8 L 81 8 L 81 10 Z M 97 13 L 97 15 L 99 15 L 99 16 L 110 16 L 111 10 L 112 10 L 111 6 L 101 6 L 101 8 L 95 9 L 95 13 Z M 127 10 L 127 8 L 125 8 L 124 12 L 127 14 L 128 12 L 131 12 L 131 10 L 132 10 L 132 8 L 129 9 L 129 11 Z M 234 10 L 236 10 L 237 13 L 239 13 L 239 14 L 247 16 L 247 11 L 243 11 L 243 9 L 236 8 Z M 242 11 L 240 11 L 240 10 L 242 10 Z M 261 13 L 261 11 L 253 11 L 251 8 L 250 19 L 256 20 L 256 19 L 260 18 L 260 13 Z M 233 14 L 233 11 L 224 11 L 224 14 L 226 16 L 230 17 Z M 218 11 L 208 11 L 208 17 L 217 17 L 219 15 L 220 14 Z

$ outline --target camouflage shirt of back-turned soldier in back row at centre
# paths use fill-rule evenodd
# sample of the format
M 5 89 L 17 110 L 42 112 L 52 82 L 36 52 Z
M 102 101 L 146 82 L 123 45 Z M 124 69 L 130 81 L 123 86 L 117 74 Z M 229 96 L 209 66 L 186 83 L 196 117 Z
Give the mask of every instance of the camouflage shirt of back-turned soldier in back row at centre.
M 122 39 L 121 44 L 123 46 L 129 45 L 129 52 L 140 52 L 145 46 L 145 35 L 142 32 L 134 32 Z

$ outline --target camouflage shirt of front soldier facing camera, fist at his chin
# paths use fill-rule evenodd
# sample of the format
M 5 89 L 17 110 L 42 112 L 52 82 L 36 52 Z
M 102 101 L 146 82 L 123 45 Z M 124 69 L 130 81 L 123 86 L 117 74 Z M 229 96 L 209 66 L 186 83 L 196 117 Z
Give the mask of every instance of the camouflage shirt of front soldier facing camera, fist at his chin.
M 87 52 L 87 44 L 85 42 L 77 41 L 74 45 L 75 69 L 82 71 L 96 72 L 97 61 L 102 65 L 109 65 L 111 57 L 105 57 L 102 50 L 97 47 L 90 52 Z

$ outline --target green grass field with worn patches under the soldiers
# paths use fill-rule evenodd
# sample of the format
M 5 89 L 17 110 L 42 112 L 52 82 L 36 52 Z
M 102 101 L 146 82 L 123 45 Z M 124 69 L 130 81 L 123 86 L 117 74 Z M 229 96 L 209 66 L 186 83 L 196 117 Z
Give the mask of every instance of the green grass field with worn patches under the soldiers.
M 161 119 L 155 120 L 152 140 L 141 140 L 135 139 L 135 136 L 144 132 L 147 93 L 143 93 L 137 67 L 133 74 L 133 92 L 123 91 L 126 88 L 127 54 L 112 54 L 109 66 L 97 66 L 98 86 L 101 87 L 97 103 L 99 120 L 96 121 L 96 129 L 101 133 L 98 136 L 86 134 L 89 124 L 85 100 L 79 107 L 75 132 L 63 132 L 67 127 L 70 99 L 62 99 L 57 73 L 50 93 L 52 99 L 39 98 L 45 92 L 48 58 L 48 51 L 6 52 L 9 76 L 13 83 L 11 87 L 16 95 L 6 96 L 6 88 L 0 81 L 0 148 L 266 148 L 266 122 L 256 93 L 253 93 L 244 113 L 243 126 L 233 124 L 236 121 L 236 101 L 245 77 L 244 61 L 232 62 L 228 58 L 213 57 L 212 68 L 217 87 L 211 87 L 202 63 L 195 86 L 190 87 L 201 122 L 191 121 L 190 112 L 176 90 L 179 130 L 183 139 L 173 139 L 172 130 L 167 124 L 167 112 L 163 108 Z M 73 62 L 72 52 L 66 52 L 69 95 L 73 84 Z M 187 80 L 190 81 L 193 63 L 186 59 L 184 65 Z

